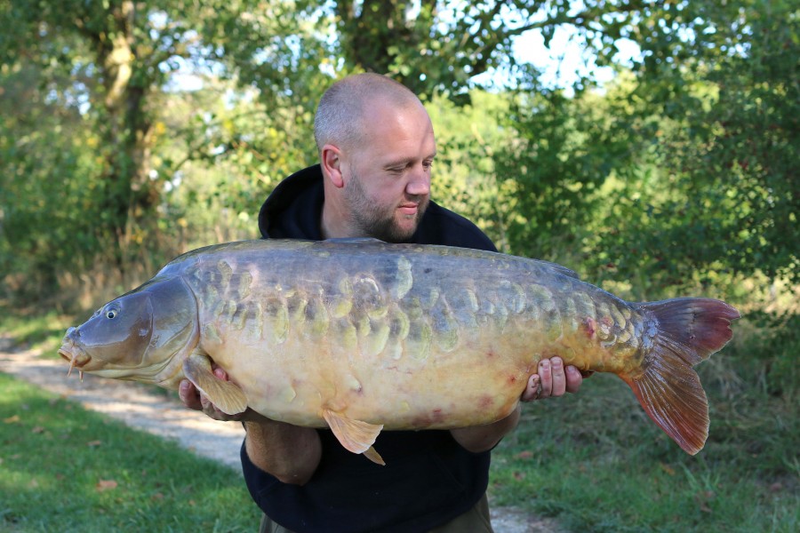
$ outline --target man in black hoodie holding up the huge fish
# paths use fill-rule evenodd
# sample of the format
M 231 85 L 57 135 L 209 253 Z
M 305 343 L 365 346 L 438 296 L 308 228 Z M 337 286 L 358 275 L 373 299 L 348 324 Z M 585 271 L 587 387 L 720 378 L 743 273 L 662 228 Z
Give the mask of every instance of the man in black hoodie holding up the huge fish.
M 276 187 L 261 208 L 265 238 L 375 237 L 496 251 L 467 219 L 429 201 L 436 141 L 430 118 L 401 84 L 375 74 L 333 84 L 315 120 L 320 164 Z M 215 370 L 219 378 L 227 376 Z M 576 392 L 574 367 L 542 362 L 522 396 Z M 180 397 L 228 418 L 188 381 Z M 374 465 L 327 430 L 290 426 L 248 410 L 244 478 L 265 513 L 262 531 L 492 531 L 486 487 L 490 450 L 520 410 L 491 425 L 451 431 L 383 432 Z

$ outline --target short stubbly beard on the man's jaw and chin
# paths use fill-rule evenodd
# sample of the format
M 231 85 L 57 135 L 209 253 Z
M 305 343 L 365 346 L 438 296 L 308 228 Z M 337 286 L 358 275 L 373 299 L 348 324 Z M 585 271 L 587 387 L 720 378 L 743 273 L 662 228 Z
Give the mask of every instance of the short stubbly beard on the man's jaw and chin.
M 385 208 L 376 205 L 364 194 L 361 179 L 355 174 L 350 177 L 345 187 L 345 199 L 348 202 L 350 216 L 356 222 L 356 227 L 364 233 L 387 243 L 403 243 L 414 235 L 420 226 L 422 215 L 428 209 L 428 197 L 420 200 L 417 212 L 414 214 L 414 224 L 411 229 L 398 227 L 395 220 L 396 205 Z

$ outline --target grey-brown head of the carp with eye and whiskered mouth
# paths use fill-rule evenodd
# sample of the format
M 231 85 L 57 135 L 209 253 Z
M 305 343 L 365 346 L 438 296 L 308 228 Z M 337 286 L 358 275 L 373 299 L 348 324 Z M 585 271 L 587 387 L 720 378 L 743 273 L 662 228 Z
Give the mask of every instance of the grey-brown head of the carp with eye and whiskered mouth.
M 153 382 L 196 339 L 197 306 L 180 278 L 155 278 L 69 328 L 59 354 L 82 373 Z

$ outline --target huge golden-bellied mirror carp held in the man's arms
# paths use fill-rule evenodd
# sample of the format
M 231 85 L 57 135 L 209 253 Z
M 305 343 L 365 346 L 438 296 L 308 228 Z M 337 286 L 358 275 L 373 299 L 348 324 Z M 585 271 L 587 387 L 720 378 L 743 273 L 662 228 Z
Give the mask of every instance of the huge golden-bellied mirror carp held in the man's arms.
M 489 424 L 556 355 L 613 372 L 681 448 L 708 436 L 692 365 L 732 337 L 724 302 L 630 303 L 555 264 L 372 239 L 190 251 L 69 328 L 70 370 L 176 389 L 221 410 L 329 426 L 376 462 L 382 429 Z M 212 362 L 230 381 L 215 378 Z

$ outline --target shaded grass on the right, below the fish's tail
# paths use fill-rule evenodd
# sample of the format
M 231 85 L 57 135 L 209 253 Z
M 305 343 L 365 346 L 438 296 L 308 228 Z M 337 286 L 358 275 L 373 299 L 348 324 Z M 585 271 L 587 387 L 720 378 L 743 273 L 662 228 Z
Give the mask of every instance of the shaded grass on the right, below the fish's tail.
M 755 387 L 732 398 L 706 388 L 712 426 L 695 457 L 611 375 L 526 406 L 492 456 L 495 505 L 556 517 L 572 531 L 800 530 L 796 407 Z

